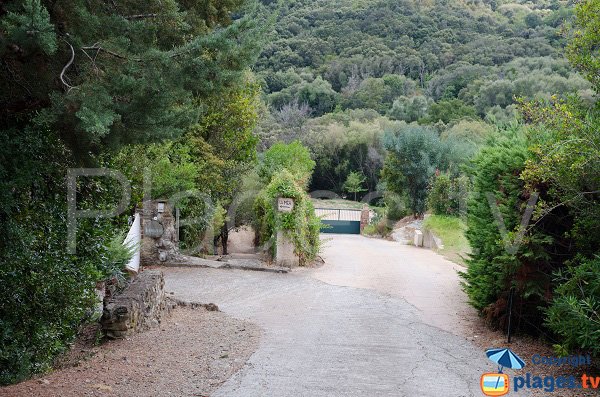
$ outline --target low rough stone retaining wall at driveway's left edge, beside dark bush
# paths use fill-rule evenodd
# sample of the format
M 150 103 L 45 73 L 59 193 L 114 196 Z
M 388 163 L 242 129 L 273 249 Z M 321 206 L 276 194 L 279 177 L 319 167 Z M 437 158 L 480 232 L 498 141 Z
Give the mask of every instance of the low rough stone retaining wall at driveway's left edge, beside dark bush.
M 109 338 L 158 326 L 171 309 L 165 296 L 165 279 L 160 270 L 140 273 L 125 290 L 105 302 L 100 323 Z

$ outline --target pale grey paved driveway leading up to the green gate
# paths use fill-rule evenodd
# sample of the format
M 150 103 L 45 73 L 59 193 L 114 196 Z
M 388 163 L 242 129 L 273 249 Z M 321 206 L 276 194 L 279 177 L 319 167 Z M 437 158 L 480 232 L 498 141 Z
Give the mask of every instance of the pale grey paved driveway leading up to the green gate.
M 464 300 L 453 265 L 397 243 L 325 239 L 327 265 L 316 270 L 166 270 L 176 297 L 214 302 L 264 330 L 213 396 L 481 396 L 479 378 L 494 367 L 444 329 Z

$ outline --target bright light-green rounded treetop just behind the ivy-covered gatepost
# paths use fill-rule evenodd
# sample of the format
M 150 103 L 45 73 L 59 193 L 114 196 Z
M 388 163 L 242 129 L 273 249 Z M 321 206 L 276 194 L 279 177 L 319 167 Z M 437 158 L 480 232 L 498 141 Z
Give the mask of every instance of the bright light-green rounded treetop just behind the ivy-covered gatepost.
M 299 141 L 290 144 L 276 143 L 263 154 L 258 175 L 263 183 L 269 183 L 275 174 L 286 169 L 294 176 L 296 183 L 307 186 L 315 167 L 310 152 Z

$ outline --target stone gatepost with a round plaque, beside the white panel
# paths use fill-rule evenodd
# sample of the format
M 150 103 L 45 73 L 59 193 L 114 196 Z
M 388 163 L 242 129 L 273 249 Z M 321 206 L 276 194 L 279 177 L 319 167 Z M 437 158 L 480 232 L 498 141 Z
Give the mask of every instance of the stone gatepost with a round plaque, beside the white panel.
M 145 203 L 142 213 L 142 263 L 165 262 L 179 252 L 177 219 L 167 200 Z

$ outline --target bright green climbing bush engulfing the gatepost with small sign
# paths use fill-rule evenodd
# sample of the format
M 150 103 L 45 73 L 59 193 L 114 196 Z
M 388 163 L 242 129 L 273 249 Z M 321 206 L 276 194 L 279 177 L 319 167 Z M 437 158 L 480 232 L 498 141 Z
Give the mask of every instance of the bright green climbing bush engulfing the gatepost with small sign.
M 294 199 L 294 209 L 279 212 L 279 197 Z M 257 196 L 254 209 L 259 243 L 270 245 L 272 254 L 275 254 L 277 231 L 284 230 L 294 243 L 301 265 L 316 258 L 320 249 L 321 220 L 315 215 L 312 201 L 295 175 L 286 169 L 277 172 Z

